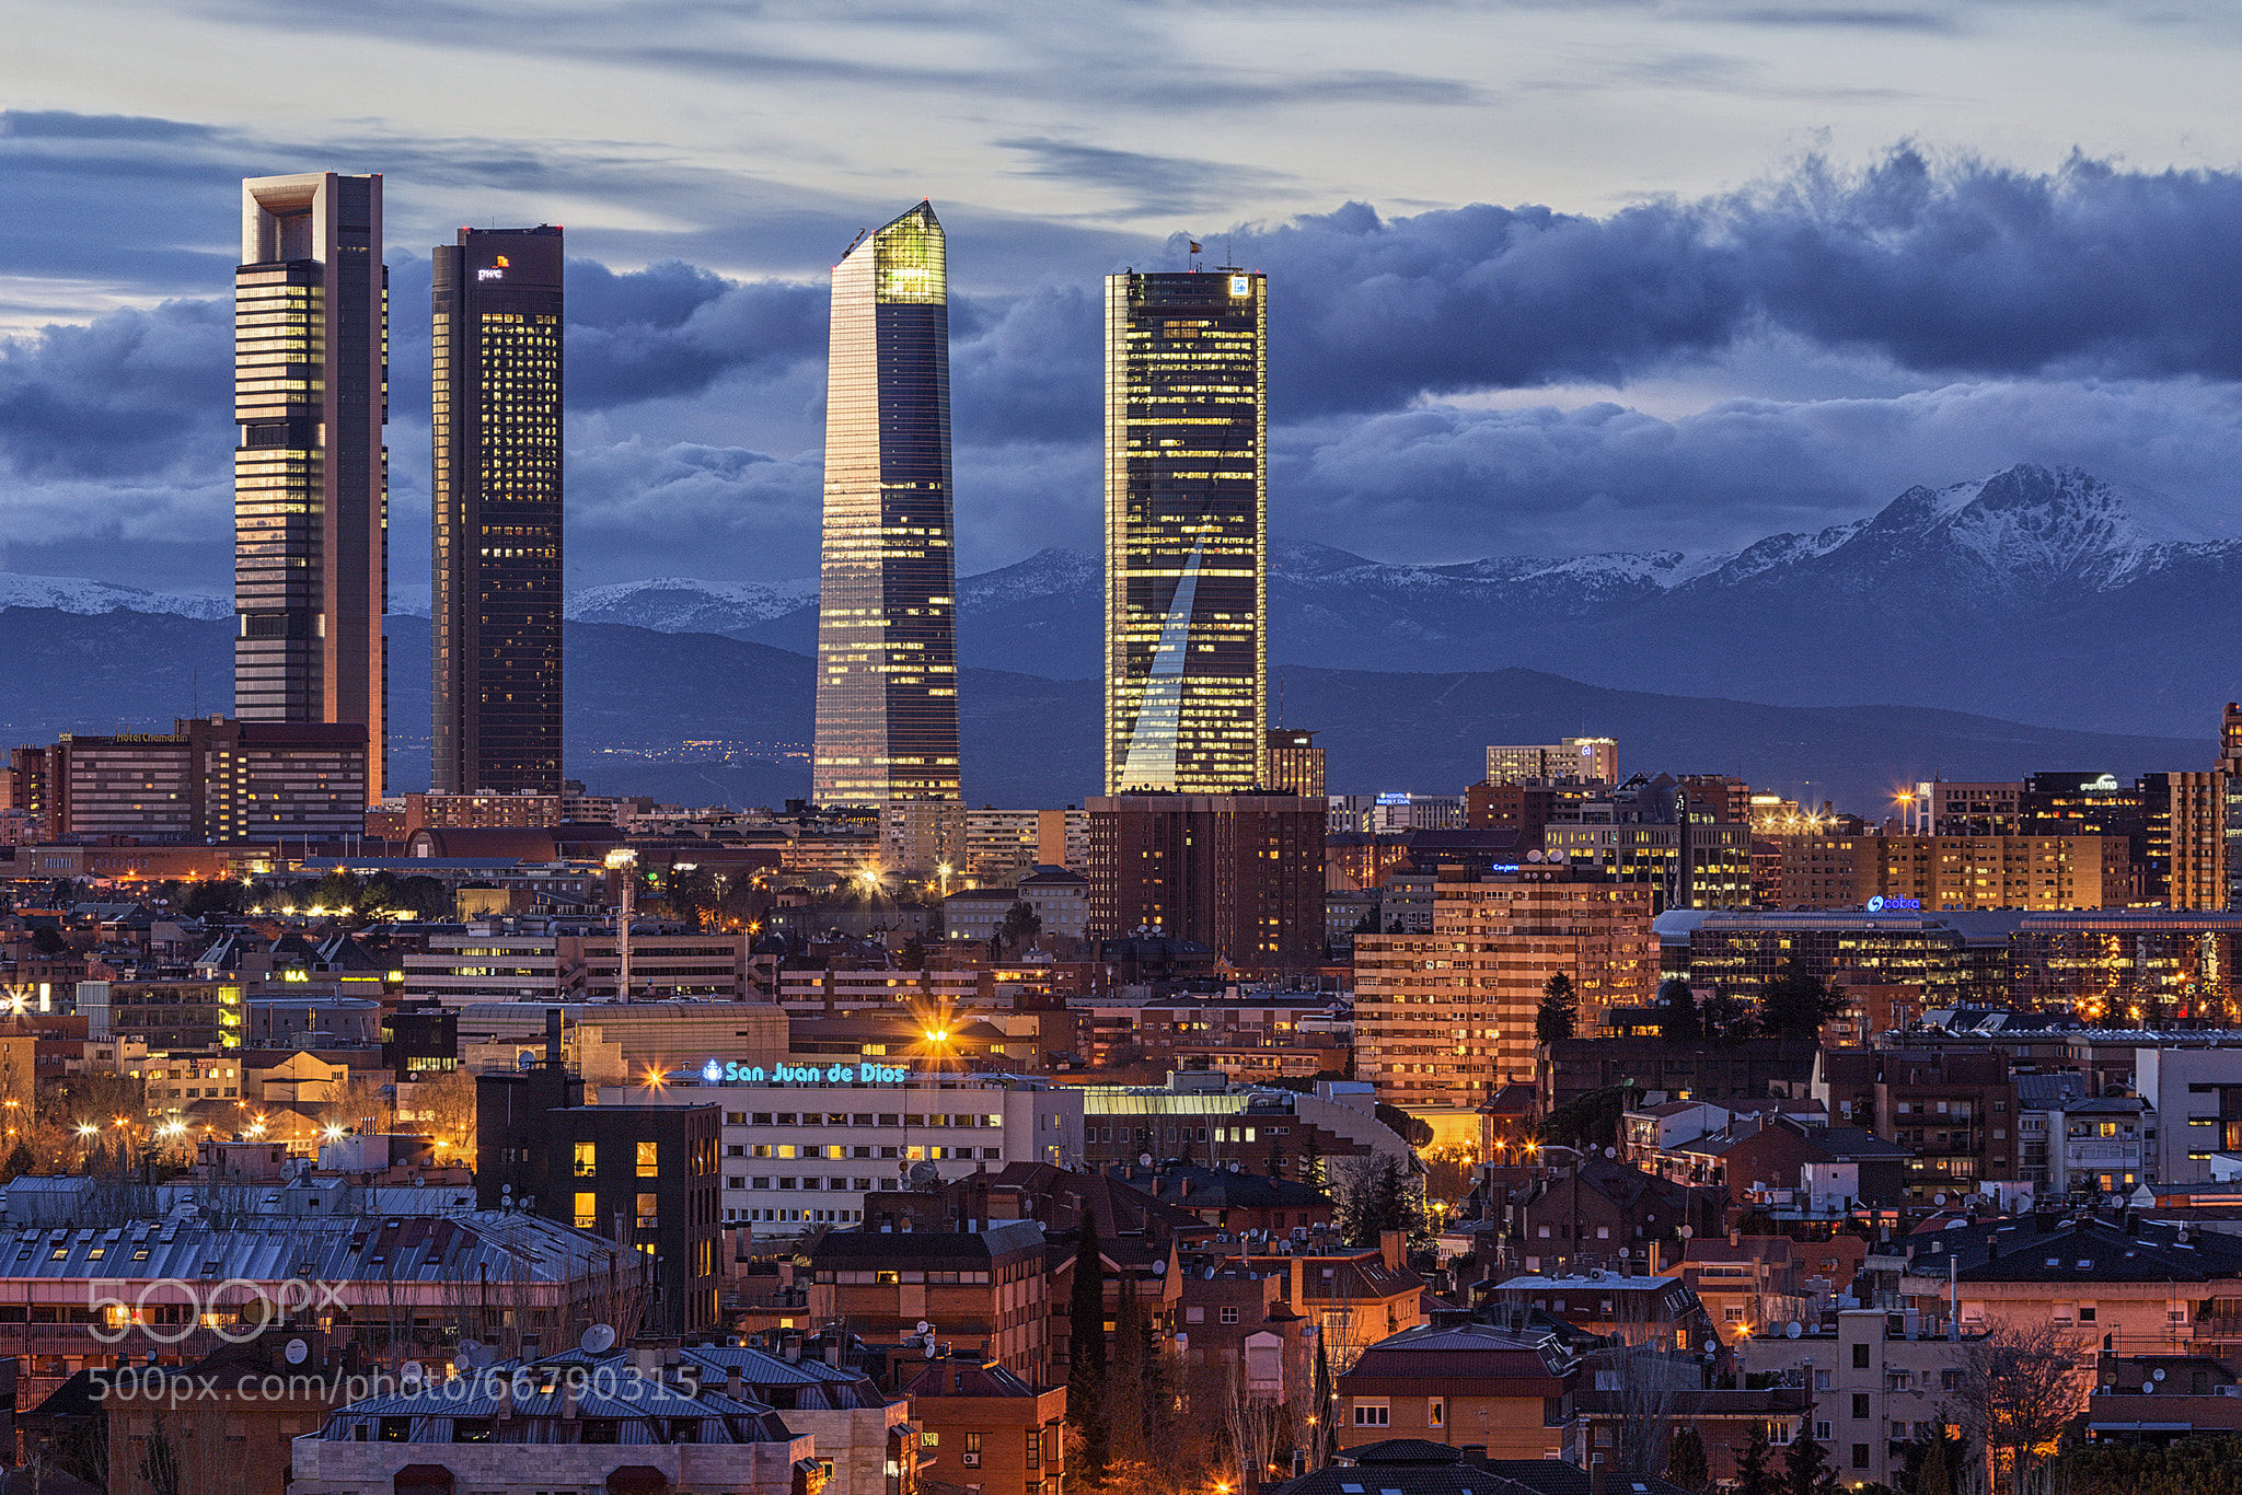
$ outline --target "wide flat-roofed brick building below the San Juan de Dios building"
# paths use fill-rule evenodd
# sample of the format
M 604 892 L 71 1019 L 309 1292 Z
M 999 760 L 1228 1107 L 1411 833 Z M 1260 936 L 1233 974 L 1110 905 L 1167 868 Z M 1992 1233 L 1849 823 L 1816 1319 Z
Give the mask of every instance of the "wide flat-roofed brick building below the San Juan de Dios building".
M 809 1246 L 809 1318 L 899 1343 L 919 1322 L 937 1340 L 993 1361 L 1029 1385 L 1054 1378 L 1045 1320 L 1043 1226 L 897 1235 L 834 1231 Z M 1058 1378 L 1065 1378 L 1060 1367 Z M 917 1412 L 917 1408 L 912 1408 Z

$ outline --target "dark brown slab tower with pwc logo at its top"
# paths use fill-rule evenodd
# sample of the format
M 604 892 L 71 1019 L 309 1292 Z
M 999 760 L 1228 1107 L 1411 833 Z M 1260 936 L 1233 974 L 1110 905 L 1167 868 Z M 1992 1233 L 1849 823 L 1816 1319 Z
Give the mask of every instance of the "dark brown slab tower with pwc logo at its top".
M 437 793 L 560 793 L 560 231 L 435 251 Z

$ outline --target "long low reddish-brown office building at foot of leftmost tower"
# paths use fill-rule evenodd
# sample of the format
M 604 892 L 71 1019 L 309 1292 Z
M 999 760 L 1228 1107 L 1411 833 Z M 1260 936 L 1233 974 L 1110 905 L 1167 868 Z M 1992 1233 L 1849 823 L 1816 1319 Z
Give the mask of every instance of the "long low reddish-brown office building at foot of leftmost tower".
M 195 717 L 65 735 L 45 753 L 56 836 L 336 841 L 365 827 L 365 728 Z

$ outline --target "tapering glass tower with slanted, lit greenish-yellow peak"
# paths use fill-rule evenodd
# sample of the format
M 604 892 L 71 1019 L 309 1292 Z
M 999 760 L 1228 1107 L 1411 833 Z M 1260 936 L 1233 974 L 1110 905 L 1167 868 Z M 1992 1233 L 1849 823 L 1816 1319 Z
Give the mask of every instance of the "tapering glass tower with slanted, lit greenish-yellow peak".
M 951 296 L 921 202 L 834 267 L 818 576 L 818 805 L 879 809 L 890 867 L 962 865 Z

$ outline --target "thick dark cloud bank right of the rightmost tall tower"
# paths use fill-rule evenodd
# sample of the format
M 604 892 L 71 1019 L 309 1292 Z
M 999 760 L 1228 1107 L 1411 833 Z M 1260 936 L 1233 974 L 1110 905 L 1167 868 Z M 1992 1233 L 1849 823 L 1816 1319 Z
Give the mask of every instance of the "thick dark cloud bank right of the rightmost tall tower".
M 1921 374 L 2242 377 L 2242 175 L 2033 175 L 1901 148 L 1578 217 L 1365 204 L 1238 238 L 1280 408 L 1623 386 L 1769 327 Z

